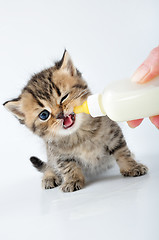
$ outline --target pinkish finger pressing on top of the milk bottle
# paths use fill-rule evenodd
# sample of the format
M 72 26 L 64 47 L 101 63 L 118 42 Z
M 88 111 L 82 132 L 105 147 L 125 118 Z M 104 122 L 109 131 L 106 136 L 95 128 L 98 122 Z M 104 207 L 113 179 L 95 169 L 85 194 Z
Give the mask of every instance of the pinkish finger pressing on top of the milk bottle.
M 146 83 L 159 75 L 159 46 L 154 48 L 147 59 L 132 76 L 133 82 Z

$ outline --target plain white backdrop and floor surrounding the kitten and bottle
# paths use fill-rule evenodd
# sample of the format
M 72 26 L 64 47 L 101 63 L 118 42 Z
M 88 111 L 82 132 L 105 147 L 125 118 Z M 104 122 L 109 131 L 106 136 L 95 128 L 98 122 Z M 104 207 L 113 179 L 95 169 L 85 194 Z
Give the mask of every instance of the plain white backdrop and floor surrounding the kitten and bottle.
M 115 168 L 111 177 L 63 194 L 41 190 L 29 157 L 46 160 L 45 147 L 2 106 L 64 48 L 94 93 L 130 77 L 159 44 L 158 23 L 158 0 L 0 0 L 1 239 L 159 239 L 159 132 L 148 119 L 122 129 L 149 175 L 125 179 Z

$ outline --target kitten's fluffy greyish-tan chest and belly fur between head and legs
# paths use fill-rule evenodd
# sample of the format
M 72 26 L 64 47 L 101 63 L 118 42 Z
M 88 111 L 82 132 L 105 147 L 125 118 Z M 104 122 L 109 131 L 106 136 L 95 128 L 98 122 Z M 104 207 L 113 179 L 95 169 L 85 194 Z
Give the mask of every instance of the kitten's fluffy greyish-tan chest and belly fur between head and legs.
M 48 159 L 51 165 L 56 165 L 59 158 L 64 161 L 75 159 L 86 174 L 104 171 L 112 165 L 112 156 L 106 147 L 109 120 L 107 117 L 89 119 L 91 124 L 85 123 L 76 133 L 48 143 Z

